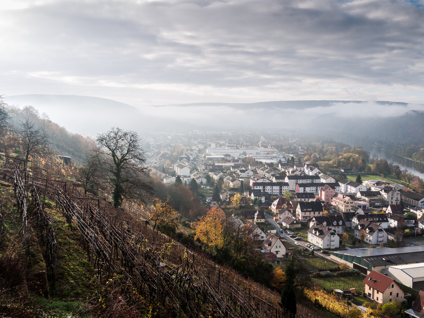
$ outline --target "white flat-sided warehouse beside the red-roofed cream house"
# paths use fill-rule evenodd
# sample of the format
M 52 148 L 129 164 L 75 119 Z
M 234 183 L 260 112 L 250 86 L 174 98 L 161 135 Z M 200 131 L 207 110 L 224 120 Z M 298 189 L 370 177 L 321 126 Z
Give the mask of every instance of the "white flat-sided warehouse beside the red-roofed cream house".
M 403 285 L 424 291 L 424 263 L 389 266 L 387 276 Z

